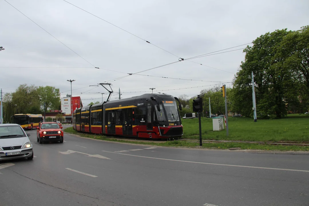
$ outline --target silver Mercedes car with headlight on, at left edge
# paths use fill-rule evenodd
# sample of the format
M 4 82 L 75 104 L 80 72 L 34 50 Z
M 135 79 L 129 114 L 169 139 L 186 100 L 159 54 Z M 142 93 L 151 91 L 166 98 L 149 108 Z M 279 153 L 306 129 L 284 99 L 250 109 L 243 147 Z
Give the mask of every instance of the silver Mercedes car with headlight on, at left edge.
M 33 159 L 28 136 L 19 124 L 0 124 L 0 160 Z

